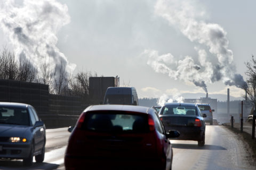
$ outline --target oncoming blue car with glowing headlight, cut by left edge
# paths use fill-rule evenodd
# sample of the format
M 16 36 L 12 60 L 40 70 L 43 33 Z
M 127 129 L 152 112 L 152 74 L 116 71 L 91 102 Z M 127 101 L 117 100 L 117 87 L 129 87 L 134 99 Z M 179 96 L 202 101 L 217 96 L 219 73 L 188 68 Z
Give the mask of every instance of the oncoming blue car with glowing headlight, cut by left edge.
M 43 162 L 45 125 L 33 106 L 0 102 L 0 159 L 23 159 L 29 166 Z

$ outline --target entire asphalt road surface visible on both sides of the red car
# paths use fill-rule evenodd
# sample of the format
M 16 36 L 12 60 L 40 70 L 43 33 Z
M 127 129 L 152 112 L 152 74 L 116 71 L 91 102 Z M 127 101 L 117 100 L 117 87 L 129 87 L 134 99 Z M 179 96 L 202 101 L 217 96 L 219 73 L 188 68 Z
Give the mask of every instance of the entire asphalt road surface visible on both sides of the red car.
M 63 157 L 70 133 L 67 128 L 46 130 L 44 163 L 23 167 L 21 160 L 0 161 L 0 169 L 65 169 Z M 205 146 L 196 141 L 171 140 L 172 169 L 256 169 L 250 151 L 237 135 L 222 125 L 207 125 Z

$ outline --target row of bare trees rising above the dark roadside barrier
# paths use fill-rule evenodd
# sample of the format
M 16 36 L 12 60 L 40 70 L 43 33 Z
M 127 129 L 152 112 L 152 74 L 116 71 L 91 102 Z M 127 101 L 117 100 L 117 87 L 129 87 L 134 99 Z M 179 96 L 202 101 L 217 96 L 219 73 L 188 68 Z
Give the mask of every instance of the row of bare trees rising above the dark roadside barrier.
M 50 94 L 89 96 L 89 78 L 97 73 L 81 71 L 68 75 L 65 65 L 51 65 L 45 57 L 44 62 L 34 67 L 29 60 L 15 60 L 15 55 L 4 48 L 0 52 L 0 79 L 42 83 L 49 85 Z

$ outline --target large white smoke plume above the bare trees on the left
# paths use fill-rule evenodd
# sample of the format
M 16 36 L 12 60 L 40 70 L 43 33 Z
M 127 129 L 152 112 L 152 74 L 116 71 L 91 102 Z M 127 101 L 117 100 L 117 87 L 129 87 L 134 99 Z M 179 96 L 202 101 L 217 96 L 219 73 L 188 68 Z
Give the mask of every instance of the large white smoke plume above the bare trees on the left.
M 67 73 L 74 71 L 76 65 L 56 46 L 57 32 L 70 22 L 67 5 L 55 0 L 24 0 L 21 4 L 5 0 L 0 5 L 0 28 L 10 39 L 17 61 L 26 58 L 39 73 L 38 67 L 45 62 L 52 68 L 56 65 L 57 71 L 61 64 Z

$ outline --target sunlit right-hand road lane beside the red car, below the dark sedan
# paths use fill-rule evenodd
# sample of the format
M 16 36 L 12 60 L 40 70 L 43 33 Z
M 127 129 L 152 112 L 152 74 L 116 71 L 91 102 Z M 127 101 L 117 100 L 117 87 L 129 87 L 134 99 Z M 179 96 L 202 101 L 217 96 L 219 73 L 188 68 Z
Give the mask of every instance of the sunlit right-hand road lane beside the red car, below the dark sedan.
M 207 125 L 205 146 L 197 141 L 171 140 L 173 169 L 255 169 L 251 152 L 238 136 L 222 125 Z

